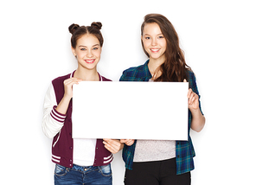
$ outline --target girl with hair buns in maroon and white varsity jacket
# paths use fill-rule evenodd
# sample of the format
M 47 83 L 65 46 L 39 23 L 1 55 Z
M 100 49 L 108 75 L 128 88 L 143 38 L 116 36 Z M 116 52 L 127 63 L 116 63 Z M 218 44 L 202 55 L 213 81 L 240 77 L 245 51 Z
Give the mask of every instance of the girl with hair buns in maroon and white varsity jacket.
M 47 137 L 53 138 L 55 185 L 111 185 L 112 153 L 124 147 L 124 144 L 114 139 L 72 138 L 73 85 L 82 80 L 110 81 L 97 72 L 104 41 L 101 27 L 100 22 L 93 22 L 91 26 L 69 26 L 72 53 L 78 61 L 78 67 L 73 73 L 54 79 L 45 96 L 42 130 Z M 90 90 L 85 96 L 90 99 Z

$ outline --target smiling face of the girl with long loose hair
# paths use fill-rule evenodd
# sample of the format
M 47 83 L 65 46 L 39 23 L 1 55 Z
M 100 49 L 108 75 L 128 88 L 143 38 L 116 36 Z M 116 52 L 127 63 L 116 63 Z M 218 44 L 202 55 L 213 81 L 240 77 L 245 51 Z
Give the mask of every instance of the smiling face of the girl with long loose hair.
M 166 40 L 158 24 L 147 23 L 144 25 L 142 35 L 144 50 L 150 55 L 150 60 L 165 61 Z

